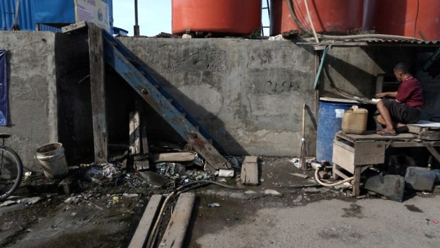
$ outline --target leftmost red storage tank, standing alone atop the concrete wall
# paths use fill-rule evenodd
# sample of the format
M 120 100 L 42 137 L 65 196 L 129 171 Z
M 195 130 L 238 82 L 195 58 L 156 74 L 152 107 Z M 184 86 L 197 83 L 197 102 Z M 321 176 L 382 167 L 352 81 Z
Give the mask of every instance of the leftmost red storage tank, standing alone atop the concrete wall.
M 251 34 L 261 29 L 261 0 L 173 0 L 173 34 Z

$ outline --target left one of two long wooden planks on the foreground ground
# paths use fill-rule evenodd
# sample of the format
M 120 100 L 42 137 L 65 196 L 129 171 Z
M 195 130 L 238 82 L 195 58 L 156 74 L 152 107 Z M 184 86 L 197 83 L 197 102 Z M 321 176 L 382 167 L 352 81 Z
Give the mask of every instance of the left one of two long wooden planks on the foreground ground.
M 131 238 L 129 248 L 142 248 L 146 245 L 146 238 L 151 232 L 153 221 L 157 219 L 160 206 L 162 205 L 162 195 L 153 195 L 148 201 L 148 205 L 142 214 L 142 218 L 137 224 L 133 238 Z

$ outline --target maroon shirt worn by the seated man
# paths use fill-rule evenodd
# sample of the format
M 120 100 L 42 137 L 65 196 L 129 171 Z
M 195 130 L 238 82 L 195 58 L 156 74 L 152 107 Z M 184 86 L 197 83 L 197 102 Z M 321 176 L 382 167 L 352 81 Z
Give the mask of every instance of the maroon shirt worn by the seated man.
M 420 82 L 414 77 L 408 77 L 401 82 L 397 89 L 396 101 L 409 107 L 423 108 L 423 91 Z

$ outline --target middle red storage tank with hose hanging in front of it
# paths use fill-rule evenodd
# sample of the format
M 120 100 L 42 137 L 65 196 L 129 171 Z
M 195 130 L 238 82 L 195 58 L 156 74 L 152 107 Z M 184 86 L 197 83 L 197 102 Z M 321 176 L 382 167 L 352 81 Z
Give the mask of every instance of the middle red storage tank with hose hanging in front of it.
M 287 1 L 292 1 L 300 23 L 311 31 L 305 0 L 270 1 L 270 35 L 275 36 L 292 29 L 302 31 L 292 18 Z M 364 0 L 308 0 L 311 20 L 320 34 L 347 34 L 362 27 Z

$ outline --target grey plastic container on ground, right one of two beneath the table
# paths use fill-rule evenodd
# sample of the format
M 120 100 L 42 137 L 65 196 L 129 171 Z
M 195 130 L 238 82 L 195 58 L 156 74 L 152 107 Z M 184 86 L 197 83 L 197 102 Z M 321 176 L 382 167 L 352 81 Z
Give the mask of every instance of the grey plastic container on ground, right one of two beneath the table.
M 405 182 L 408 188 L 420 191 L 432 191 L 437 173 L 417 166 L 406 168 Z

